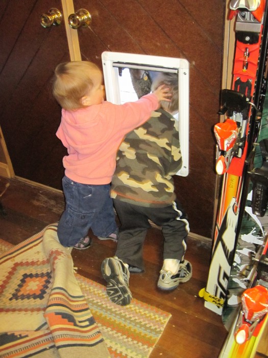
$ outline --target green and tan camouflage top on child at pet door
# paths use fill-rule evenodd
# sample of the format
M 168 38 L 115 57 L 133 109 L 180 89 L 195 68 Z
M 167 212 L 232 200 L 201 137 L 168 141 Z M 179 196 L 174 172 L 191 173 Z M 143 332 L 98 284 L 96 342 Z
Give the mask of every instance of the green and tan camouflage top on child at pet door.
M 111 197 L 145 207 L 168 206 L 176 198 L 172 175 L 181 166 L 177 121 L 158 109 L 121 143 Z

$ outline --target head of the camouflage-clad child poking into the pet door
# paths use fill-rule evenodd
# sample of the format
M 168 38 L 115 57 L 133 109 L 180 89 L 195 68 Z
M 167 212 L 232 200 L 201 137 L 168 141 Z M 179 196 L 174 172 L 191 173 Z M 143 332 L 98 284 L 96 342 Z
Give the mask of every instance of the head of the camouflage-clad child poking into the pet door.
M 156 88 L 165 84 L 169 88 L 169 93 L 172 94 L 171 102 L 160 101 L 161 107 L 166 110 L 168 113 L 176 113 L 179 110 L 179 82 L 178 74 L 161 72 L 155 78 L 152 83 L 152 91 L 155 91 Z

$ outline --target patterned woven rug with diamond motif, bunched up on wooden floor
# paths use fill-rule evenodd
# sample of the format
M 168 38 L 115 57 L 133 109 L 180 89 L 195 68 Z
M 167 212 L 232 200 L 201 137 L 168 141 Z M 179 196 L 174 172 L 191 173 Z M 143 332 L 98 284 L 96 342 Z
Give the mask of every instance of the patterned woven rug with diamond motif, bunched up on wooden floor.
M 1 358 L 147 358 L 170 318 L 135 299 L 117 306 L 75 274 L 55 224 L 15 247 L 0 239 L 0 255 Z

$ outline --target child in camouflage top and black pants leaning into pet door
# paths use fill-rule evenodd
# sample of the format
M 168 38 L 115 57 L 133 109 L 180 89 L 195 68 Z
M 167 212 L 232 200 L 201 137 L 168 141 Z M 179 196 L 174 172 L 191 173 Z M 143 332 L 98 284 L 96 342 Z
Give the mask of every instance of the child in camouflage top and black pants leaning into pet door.
M 172 176 L 182 166 L 178 121 L 173 117 L 178 112 L 178 76 L 161 73 L 152 91 L 161 84 L 169 87 L 172 100 L 161 101 L 161 108 L 128 133 L 117 152 L 111 197 L 121 226 L 115 256 L 106 258 L 101 270 L 107 294 L 118 305 L 131 302 L 129 273 L 144 272 L 143 243 L 150 221 L 162 228 L 164 237 L 157 287 L 173 290 L 192 275 L 190 262 L 184 260 L 189 223 Z

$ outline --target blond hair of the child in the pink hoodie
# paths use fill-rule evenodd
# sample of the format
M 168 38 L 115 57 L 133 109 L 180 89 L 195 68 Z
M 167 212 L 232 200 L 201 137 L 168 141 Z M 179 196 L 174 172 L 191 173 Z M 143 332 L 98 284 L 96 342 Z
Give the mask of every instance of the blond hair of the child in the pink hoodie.
M 93 78 L 101 74 L 98 66 L 90 61 L 72 61 L 57 65 L 53 79 L 53 95 L 67 110 L 85 107 L 81 99 L 94 85 Z

